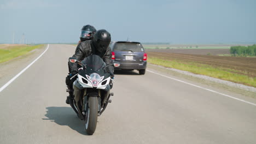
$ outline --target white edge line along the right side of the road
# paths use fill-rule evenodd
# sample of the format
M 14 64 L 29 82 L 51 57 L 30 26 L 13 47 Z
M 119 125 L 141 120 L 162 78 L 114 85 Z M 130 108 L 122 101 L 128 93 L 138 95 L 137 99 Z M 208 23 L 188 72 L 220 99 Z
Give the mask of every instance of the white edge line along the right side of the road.
M 202 88 L 202 89 L 205 89 L 206 91 L 210 91 L 210 92 L 213 92 L 213 93 L 218 93 L 218 94 L 220 94 L 220 95 L 224 95 L 225 97 L 229 97 L 229 98 L 231 98 L 231 99 L 236 99 L 236 100 L 242 101 L 242 102 L 244 102 L 244 103 L 247 103 L 247 104 L 251 104 L 251 105 L 256 106 L 256 104 L 251 103 L 251 102 L 246 101 L 246 100 L 238 99 L 238 98 L 232 97 L 232 96 L 230 96 L 230 95 L 223 94 L 223 93 L 219 93 L 219 92 L 213 91 L 213 90 L 211 90 L 211 89 L 203 88 L 203 87 L 200 87 L 200 86 L 197 86 L 197 85 L 194 85 L 194 84 L 192 84 L 192 83 L 188 83 L 188 82 L 185 82 L 185 81 L 182 81 L 182 80 L 174 79 L 174 78 L 169 77 L 169 76 L 166 76 L 166 75 L 162 75 L 162 74 L 159 74 L 159 73 L 155 73 L 154 71 L 151 71 L 151 70 L 147 70 L 147 71 L 149 71 L 150 73 L 154 73 L 154 74 L 157 74 L 157 75 L 160 75 L 160 76 L 167 77 L 168 79 L 172 79 L 172 80 L 175 80 L 175 81 L 183 82 L 183 83 L 186 83 L 186 84 L 188 84 L 188 85 L 190 85 L 190 86 Z

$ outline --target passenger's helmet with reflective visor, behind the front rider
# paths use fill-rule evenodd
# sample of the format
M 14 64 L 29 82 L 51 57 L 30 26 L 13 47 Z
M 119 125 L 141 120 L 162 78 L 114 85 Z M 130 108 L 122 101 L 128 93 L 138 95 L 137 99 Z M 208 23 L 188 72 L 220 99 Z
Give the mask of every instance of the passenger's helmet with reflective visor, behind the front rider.
M 85 41 L 85 40 L 90 40 L 94 37 L 94 34 L 96 32 L 96 29 L 91 26 L 91 25 L 86 25 L 83 26 L 81 29 L 81 35 L 80 35 L 80 40 Z

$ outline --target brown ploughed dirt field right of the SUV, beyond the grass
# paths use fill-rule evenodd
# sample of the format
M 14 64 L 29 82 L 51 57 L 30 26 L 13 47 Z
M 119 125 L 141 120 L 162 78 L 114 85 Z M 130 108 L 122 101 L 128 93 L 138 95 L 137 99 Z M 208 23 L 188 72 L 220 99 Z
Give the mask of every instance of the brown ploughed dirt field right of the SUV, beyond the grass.
M 220 50 L 177 50 L 177 49 L 166 49 L 166 50 L 146 50 L 148 57 L 159 57 L 168 60 L 178 60 L 183 62 L 197 62 L 201 64 L 212 65 L 213 67 L 229 68 L 236 71 L 232 73 L 246 74 L 251 77 L 256 77 L 256 57 L 226 57 L 226 56 L 208 56 L 207 53 L 221 53 Z M 176 53 L 173 53 L 176 52 Z M 223 50 L 223 52 L 225 52 Z M 188 54 L 190 53 L 190 54 Z M 191 53 L 197 53 L 191 54 Z M 219 55 L 218 54 L 218 55 Z

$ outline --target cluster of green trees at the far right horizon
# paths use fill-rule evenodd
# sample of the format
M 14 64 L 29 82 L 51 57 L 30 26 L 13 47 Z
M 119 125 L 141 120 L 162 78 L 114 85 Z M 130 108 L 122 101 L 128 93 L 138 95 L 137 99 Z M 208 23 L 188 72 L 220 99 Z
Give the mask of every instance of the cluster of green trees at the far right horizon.
M 233 56 L 256 56 L 256 45 L 251 46 L 231 46 L 230 53 Z

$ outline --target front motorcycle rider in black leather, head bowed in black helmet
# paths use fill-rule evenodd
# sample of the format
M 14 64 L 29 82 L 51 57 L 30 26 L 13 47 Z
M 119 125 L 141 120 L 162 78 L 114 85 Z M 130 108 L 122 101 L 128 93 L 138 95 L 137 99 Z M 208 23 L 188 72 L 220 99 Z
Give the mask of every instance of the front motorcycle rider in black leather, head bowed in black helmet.
M 78 61 L 82 61 L 85 57 L 90 55 L 98 55 L 100 56 L 103 61 L 109 65 L 112 64 L 112 52 L 110 50 L 109 44 L 111 41 L 111 36 L 108 31 L 105 29 L 100 29 L 96 31 L 94 34 L 94 38 L 92 40 L 84 40 L 78 44 L 77 49 L 75 49 L 75 53 L 73 57 L 77 58 Z M 73 91 L 73 82 L 75 81 L 75 74 L 78 73 L 78 63 L 71 63 L 68 62 L 69 67 L 69 75 L 66 77 L 66 85 L 69 91 Z M 111 78 L 114 77 L 114 67 L 113 65 L 106 68 L 106 71 L 110 73 Z M 71 79 L 73 77 L 73 79 Z M 112 82 L 110 83 L 110 87 L 112 87 Z M 66 103 L 69 104 L 69 98 L 72 98 L 71 93 L 66 99 Z

